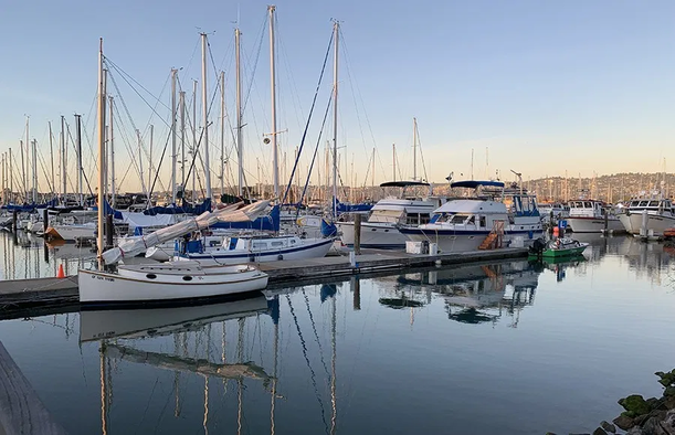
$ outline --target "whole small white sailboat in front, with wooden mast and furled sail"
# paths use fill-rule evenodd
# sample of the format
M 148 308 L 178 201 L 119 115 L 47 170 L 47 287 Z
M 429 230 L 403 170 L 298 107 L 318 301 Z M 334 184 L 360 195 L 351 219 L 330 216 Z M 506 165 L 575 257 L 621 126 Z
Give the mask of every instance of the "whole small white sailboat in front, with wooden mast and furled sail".
M 104 222 L 105 160 L 105 88 L 103 71 L 103 40 L 98 52 L 98 227 Z M 147 247 L 176 238 L 193 230 L 212 225 L 221 219 L 255 219 L 267 203 L 254 203 L 241 210 L 226 208 L 213 213 L 205 212 L 197 219 L 156 231 L 140 240 L 129 241 L 103 253 L 104 232 L 98 231 L 99 268 L 104 262 L 114 263 L 125 255 L 136 255 Z M 239 206 L 239 205 L 238 205 Z M 118 273 L 78 270 L 80 301 L 85 305 L 179 301 L 225 296 L 260 290 L 267 286 L 267 275 L 251 266 L 204 267 L 191 264 L 161 264 L 120 266 Z

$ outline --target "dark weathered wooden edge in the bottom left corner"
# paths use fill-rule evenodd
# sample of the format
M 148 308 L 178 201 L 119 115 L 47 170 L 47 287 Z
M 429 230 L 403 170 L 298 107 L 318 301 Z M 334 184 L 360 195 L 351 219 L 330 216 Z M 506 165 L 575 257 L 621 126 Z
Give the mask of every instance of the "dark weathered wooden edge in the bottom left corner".
M 64 435 L 0 342 L 0 434 Z

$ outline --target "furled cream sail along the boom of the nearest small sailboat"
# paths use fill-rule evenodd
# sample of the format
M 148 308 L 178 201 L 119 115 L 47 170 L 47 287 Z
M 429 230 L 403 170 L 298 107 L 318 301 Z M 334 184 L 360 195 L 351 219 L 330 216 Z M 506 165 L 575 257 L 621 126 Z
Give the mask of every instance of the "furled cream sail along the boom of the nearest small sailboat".
M 246 222 L 257 219 L 270 201 L 259 201 L 239 209 L 242 203 L 228 205 L 213 212 L 204 212 L 199 216 L 184 220 L 166 229 L 157 230 L 154 233 L 141 237 L 129 237 L 120 240 L 117 247 L 101 254 L 105 264 L 114 264 L 124 257 L 133 257 L 144 253 L 148 247 L 152 247 L 164 242 L 172 241 L 193 231 L 204 230 L 217 222 Z

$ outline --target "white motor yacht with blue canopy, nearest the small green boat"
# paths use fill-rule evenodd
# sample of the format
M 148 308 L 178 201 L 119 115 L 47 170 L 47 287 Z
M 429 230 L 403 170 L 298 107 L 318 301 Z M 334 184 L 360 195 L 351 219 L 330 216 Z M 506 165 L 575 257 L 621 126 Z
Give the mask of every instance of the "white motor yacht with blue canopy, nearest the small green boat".
M 504 203 L 502 181 L 457 181 L 451 188 L 473 189 L 474 195 L 447 201 L 433 212 L 426 224 L 402 226 L 411 241 L 436 243 L 441 252 L 466 252 L 510 244 L 520 237 L 524 245 L 544 234 L 534 195 L 513 192 L 513 212 Z M 486 194 L 485 192 L 492 194 Z M 497 198 L 495 193 L 500 193 Z

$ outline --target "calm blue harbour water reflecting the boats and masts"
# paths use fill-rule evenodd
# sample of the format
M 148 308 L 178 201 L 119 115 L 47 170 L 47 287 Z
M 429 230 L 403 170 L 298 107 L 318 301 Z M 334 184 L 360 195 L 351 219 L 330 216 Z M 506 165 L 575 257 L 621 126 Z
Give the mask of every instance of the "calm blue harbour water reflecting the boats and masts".
M 0 339 L 72 434 L 592 432 L 675 367 L 675 263 L 658 244 L 590 242 L 587 261 L 6 320 Z M 39 241 L 9 244 L 3 278 L 77 267 L 74 246 L 46 263 Z

